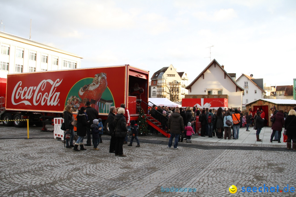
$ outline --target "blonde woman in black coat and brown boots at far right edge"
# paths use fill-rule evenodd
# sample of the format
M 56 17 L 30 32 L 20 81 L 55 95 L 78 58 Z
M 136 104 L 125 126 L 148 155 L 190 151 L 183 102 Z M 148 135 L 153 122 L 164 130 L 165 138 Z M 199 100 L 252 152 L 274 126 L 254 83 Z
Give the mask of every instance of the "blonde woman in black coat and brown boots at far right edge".
M 285 120 L 285 129 L 287 132 L 287 149 L 291 149 L 291 140 L 293 140 L 293 150 L 296 150 L 296 111 L 290 110 Z

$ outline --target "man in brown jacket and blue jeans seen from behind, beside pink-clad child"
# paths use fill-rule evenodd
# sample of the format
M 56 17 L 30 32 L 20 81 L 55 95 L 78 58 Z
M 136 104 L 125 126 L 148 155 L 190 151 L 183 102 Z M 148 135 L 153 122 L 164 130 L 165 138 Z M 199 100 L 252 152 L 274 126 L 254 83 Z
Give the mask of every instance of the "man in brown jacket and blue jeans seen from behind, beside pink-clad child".
M 175 109 L 175 112 L 168 118 L 168 130 L 170 131 L 170 139 L 167 147 L 172 146 L 175 137 L 174 149 L 178 149 L 179 135 L 184 132 L 184 122 L 179 109 Z

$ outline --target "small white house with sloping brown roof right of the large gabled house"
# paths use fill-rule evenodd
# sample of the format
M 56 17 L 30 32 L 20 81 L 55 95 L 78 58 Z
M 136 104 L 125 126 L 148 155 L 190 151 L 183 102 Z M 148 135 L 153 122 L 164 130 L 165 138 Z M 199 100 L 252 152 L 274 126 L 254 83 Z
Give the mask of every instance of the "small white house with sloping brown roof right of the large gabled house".
M 263 89 L 263 79 L 255 79 L 252 75 L 242 74 L 236 82 L 240 87 L 244 88 L 244 94 L 242 96 L 243 108 L 249 102 L 262 99 L 266 93 Z

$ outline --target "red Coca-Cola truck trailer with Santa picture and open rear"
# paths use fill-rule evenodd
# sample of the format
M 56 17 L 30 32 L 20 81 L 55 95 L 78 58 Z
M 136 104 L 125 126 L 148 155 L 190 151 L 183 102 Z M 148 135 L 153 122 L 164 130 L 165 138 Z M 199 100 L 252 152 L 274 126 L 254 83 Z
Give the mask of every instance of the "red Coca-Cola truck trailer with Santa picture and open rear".
M 66 105 L 71 104 L 77 114 L 87 101 L 98 110 L 105 127 L 110 107 L 121 103 L 126 104 L 131 119 L 137 120 L 140 101 L 148 102 L 148 79 L 149 71 L 128 64 L 8 74 L 1 120 L 4 126 L 22 127 L 26 122 L 20 120 L 29 119 L 30 125 L 43 125 L 46 130 L 46 124 L 63 116 Z

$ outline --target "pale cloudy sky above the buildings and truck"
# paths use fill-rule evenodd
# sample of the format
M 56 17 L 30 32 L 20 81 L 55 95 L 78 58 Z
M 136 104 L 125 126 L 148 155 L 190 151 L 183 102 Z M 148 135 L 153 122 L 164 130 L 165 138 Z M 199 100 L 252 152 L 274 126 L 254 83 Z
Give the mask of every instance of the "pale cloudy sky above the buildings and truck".
M 172 64 L 192 82 L 215 60 L 266 86 L 296 78 L 295 0 L 0 0 L 1 31 L 82 56 L 81 68 Z M 212 47 L 211 47 L 212 46 Z M 209 48 L 210 47 L 210 48 Z

